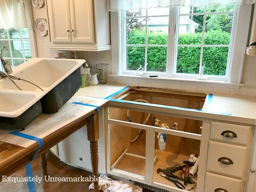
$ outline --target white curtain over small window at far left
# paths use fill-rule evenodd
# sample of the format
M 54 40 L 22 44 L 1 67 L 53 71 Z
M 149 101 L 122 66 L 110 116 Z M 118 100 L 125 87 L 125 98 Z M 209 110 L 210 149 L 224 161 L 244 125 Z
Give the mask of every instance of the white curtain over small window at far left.
M 0 29 L 25 27 L 27 20 L 23 0 L 0 0 Z

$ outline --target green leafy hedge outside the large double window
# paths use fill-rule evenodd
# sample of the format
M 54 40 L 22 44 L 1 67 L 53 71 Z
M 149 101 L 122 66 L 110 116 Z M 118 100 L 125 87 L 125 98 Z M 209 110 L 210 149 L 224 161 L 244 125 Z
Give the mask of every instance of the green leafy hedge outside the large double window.
M 188 33 L 179 35 L 178 44 L 201 44 L 202 33 Z M 168 35 L 162 32 L 149 32 L 148 44 L 167 44 Z M 204 34 L 204 44 L 229 44 L 230 33 L 212 30 Z M 145 44 L 145 30 L 128 32 L 127 44 Z M 167 47 L 148 47 L 148 71 L 166 71 Z M 201 47 L 178 47 L 177 73 L 199 73 Z M 227 66 L 228 47 L 204 47 L 204 74 L 225 75 Z M 145 47 L 127 48 L 128 70 L 136 70 L 144 66 Z

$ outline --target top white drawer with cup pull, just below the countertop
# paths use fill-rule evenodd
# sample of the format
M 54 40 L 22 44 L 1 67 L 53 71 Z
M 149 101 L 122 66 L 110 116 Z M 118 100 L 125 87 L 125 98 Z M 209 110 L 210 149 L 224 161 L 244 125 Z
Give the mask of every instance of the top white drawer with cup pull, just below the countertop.
M 210 138 L 250 145 L 253 129 L 248 126 L 212 122 Z

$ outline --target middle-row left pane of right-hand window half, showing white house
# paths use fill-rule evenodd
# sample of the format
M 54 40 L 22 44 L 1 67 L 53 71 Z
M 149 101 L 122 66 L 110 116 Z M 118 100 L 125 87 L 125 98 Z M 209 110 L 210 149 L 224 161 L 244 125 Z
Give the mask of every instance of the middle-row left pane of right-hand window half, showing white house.
M 204 15 L 180 16 L 178 44 L 202 43 Z

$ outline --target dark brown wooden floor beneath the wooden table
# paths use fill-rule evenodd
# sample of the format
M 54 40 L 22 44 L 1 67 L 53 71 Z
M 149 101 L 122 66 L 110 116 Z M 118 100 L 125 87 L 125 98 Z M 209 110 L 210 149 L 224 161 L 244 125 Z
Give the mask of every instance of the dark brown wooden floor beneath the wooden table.
M 32 163 L 33 177 L 43 177 L 39 157 Z M 89 177 L 87 172 L 61 162 L 52 153 L 47 152 L 48 175 L 51 177 Z M 15 172 L 10 177 L 26 177 L 25 167 Z M 37 192 L 89 192 L 91 182 L 35 182 Z M 0 192 L 29 192 L 26 182 L 0 182 Z M 143 189 L 143 192 L 153 192 Z

